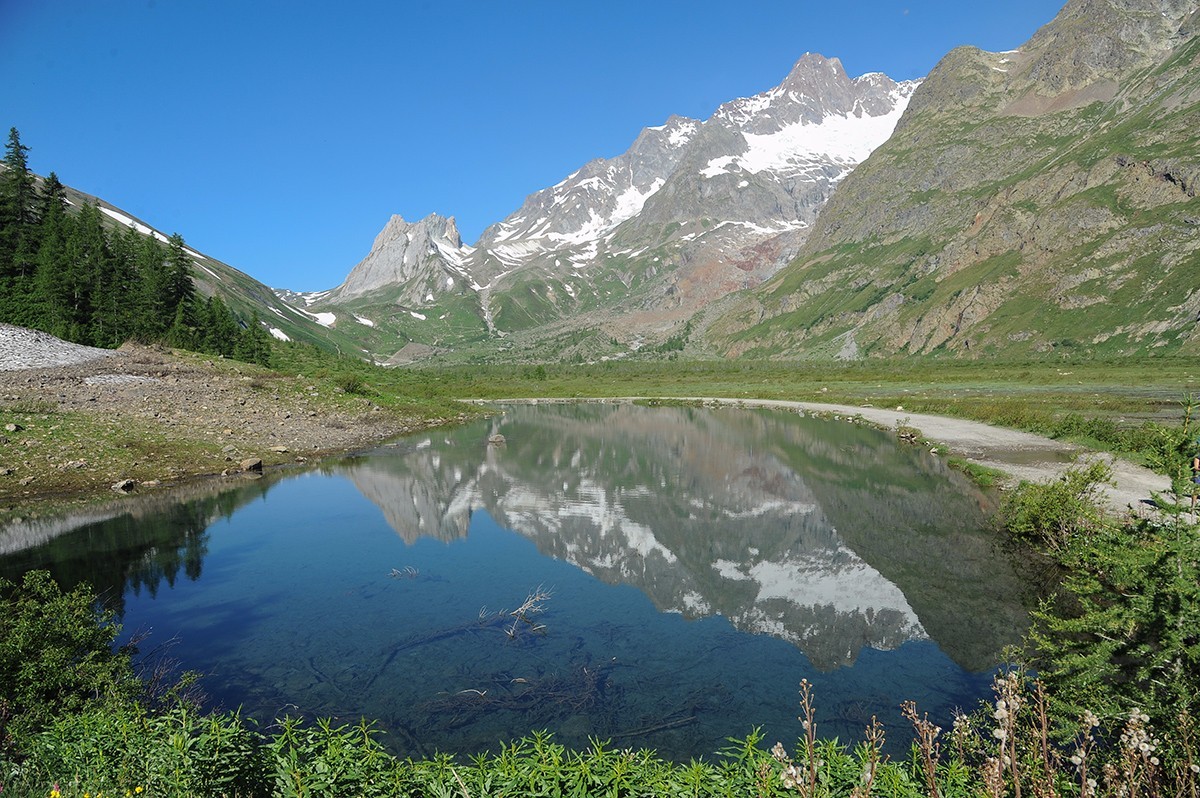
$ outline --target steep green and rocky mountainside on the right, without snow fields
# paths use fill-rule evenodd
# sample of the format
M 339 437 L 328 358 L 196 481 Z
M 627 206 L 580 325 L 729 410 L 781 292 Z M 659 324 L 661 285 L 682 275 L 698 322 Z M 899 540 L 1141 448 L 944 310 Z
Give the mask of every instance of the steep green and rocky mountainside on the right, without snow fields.
M 713 322 L 715 348 L 1195 352 L 1196 19 L 1073 0 L 1016 50 L 952 50 L 792 264 Z

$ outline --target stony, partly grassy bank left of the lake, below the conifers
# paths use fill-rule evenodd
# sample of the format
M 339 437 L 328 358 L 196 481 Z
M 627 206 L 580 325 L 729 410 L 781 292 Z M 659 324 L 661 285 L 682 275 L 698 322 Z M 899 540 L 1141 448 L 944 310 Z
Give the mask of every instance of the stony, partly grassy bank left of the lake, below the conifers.
M 0 508 L 305 461 L 445 420 L 247 364 L 0 325 Z

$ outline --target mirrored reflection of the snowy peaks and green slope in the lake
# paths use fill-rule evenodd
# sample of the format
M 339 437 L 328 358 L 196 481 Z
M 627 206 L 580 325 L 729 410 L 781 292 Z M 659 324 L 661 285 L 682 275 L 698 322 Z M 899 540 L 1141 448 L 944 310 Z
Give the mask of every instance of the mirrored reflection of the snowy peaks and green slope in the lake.
M 463 536 L 482 509 L 661 611 L 724 616 L 822 670 L 853 664 L 864 646 L 926 638 L 925 611 L 955 661 L 994 665 L 1025 614 L 984 532 L 984 497 L 919 448 L 848 424 L 830 438 L 829 426 L 769 412 L 511 406 L 490 430 L 504 445 L 428 438 L 346 472 L 407 542 Z

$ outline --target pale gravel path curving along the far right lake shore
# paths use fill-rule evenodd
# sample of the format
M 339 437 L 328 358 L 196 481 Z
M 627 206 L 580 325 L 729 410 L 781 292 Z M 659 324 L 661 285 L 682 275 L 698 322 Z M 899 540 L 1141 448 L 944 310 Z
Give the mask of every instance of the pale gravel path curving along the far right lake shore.
M 632 402 L 636 398 L 638 397 L 606 401 Z M 887 430 L 896 430 L 904 425 L 918 430 L 923 438 L 946 448 L 950 454 L 972 463 L 1004 472 L 1014 481 L 1045 482 L 1057 479 L 1069 466 L 1078 461 L 1104 460 L 1112 467 L 1112 478 L 1116 482 L 1115 486 L 1105 488 L 1109 505 L 1116 512 L 1126 512 L 1132 509 L 1134 512 L 1142 514 L 1152 506 L 1152 493 L 1163 493 L 1170 488 L 1170 480 L 1165 476 L 1156 474 L 1148 468 L 1115 458 L 1111 455 L 1097 454 L 1074 444 L 1063 443 L 1062 440 L 1052 440 L 1028 432 L 996 427 L 980 421 L 908 413 L 902 408 L 887 410 L 852 404 L 822 404 L 820 402 L 787 402 L 779 400 L 672 398 L 680 398 L 685 402 L 704 402 L 706 404 L 782 408 L 846 418 L 860 416 Z M 554 400 L 514 401 L 545 402 Z

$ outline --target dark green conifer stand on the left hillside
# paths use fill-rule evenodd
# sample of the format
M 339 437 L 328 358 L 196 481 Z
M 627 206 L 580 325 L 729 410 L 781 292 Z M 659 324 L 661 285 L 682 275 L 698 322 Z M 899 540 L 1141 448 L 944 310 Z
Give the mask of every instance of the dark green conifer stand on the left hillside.
M 178 233 L 166 242 L 107 223 L 98 205 L 73 205 L 55 173 L 29 170 L 8 131 L 0 169 L 0 322 L 74 343 L 164 343 L 269 365 L 271 340 L 220 296 L 203 296 Z

